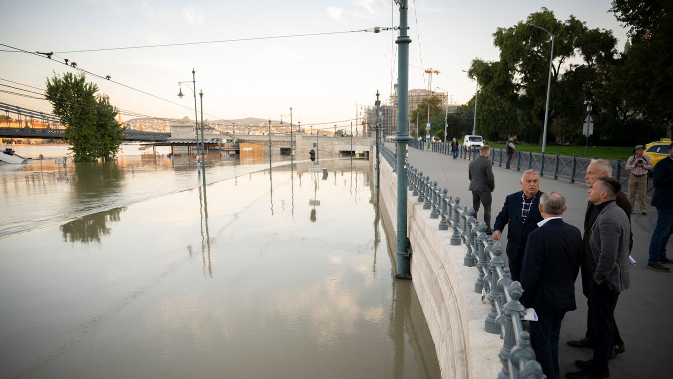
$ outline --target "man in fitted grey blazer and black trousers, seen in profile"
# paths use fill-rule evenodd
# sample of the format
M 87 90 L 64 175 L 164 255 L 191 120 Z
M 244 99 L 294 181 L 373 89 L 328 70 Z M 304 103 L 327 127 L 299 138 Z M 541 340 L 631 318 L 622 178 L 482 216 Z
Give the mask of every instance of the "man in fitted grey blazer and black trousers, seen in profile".
M 629 269 L 629 217 L 614 202 L 621 190 L 619 180 L 601 176 L 589 188 L 589 201 L 596 205 L 598 217 L 591 229 L 590 248 L 594 273 L 589 285 L 593 310 L 594 354 L 577 360 L 581 371 L 567 372 L 570 379 L 608 378 L 608 359 L 614 341 L 614 308 L 619 294 L 631 286 Z

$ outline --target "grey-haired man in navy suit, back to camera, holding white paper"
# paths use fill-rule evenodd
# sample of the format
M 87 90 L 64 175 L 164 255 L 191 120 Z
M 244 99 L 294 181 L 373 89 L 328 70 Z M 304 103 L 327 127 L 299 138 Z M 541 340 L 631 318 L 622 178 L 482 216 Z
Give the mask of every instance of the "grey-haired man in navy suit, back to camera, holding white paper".
M 547 378 L 559 378 L 559 334 L 565 312 L 577 309 L 575 279 L 579 274 L 582 236 L 563 222 L 565 197 L 553 191 L 540 196 L 538 211 L 543 220 L 530 232 L 521 270 L 524 295 L 521 302 L 533 308 L 537 321 L 530 322 L 530 342 L 535 359 Z

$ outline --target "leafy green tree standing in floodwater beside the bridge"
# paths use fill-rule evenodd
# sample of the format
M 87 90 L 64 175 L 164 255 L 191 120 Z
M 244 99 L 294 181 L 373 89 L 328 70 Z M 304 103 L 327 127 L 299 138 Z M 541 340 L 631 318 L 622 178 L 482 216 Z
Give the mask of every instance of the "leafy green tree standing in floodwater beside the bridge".
M 110 160 L 116 156 L 124 128 L 114 119 L 117 109 L 98 85 L 87 83 L 83 73 L 56 73 L 46 80 L 46 98 L 66 125 L 64 141 L 70 143 L 75 162 Z

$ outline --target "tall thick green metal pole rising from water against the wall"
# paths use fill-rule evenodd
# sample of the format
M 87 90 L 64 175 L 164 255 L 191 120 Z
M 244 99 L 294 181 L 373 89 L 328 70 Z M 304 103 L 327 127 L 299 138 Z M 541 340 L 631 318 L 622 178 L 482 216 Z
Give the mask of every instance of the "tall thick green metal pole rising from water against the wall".
M 409 143 L 409 44 L 407 35 L 409 26 L 406 16 L 409 8 L 407 0 L 400 0 L 400 34 L 395 43 L 398 44 L 398 114 L 397 114 L 397 269 L 395 277 L 411 278 L 409 273 L 409 252 L 406 251 L 406 144 Z

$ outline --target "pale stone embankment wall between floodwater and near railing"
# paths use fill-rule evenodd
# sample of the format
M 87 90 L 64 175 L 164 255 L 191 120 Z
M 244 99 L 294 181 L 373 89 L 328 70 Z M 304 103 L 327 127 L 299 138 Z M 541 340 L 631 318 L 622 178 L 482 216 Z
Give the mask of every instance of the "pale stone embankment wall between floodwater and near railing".
M 375 153 L 375 152 L 374 152 Z M 372 157 L 374 156 L 372 154 Z M 371 160 L 371 158 L 370 158 Z M 374 162 L 376 175 L 376 162 Z M 397 175 L 381 159 L 379 201 L 397 233 Z M 502 364 L 499 335 L 484 331 L 489 305 L 474 292 L 477 273 L 463 265 L 466 247 L 450 246 L 452 230 L 440 231 L 417 197 L 408 193 L 407 237 L 413 255 L 411 275 L 427 320 L 442 378 L 497 378 Z M 398 279 L 404 280 L 404 279 Z

